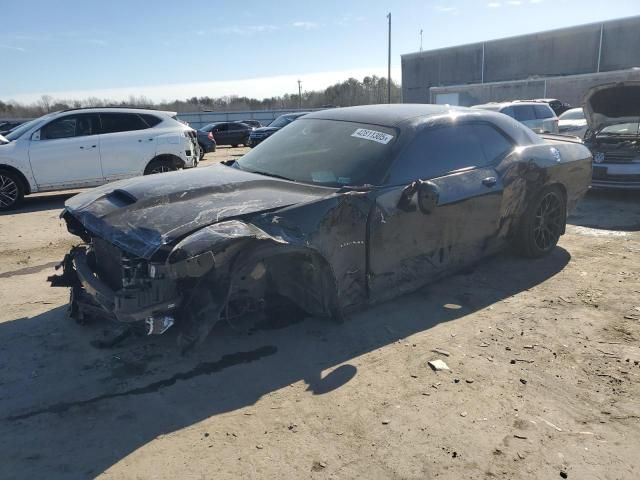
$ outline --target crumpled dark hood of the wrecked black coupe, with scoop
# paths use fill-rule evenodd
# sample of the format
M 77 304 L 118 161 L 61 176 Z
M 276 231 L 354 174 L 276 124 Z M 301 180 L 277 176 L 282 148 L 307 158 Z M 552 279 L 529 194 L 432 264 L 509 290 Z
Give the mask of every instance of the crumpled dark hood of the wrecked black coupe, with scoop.
M 143 258 L 205 226 L 332 195 L 224 165 L 122 180 L 65 203 L 93 235 Z

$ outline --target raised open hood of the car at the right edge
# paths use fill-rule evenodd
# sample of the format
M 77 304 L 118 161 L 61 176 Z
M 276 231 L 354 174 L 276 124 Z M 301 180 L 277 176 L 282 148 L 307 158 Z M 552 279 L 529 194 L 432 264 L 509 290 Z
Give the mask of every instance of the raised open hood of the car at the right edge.
M 617 123 L 637 122 L 640 118 L 640 81 L 599 85 L 584 97 L 587 125 L 599 131 Z

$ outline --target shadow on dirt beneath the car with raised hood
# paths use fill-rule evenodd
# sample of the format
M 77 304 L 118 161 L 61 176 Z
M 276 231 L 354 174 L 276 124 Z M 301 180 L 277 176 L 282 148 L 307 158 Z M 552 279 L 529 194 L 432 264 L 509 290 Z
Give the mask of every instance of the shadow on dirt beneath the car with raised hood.
M 568 222 L 600 230 L 640 231 L 640 190 L 591 189 Z

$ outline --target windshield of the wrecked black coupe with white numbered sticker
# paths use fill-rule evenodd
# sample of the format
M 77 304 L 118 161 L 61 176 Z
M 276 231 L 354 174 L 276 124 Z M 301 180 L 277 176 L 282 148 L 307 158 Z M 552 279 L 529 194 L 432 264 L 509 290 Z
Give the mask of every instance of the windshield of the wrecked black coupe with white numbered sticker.
M 237 161 L 241 170 L 331 187 L 378 184 L 397 137 L 392 128 L 300 119 Z

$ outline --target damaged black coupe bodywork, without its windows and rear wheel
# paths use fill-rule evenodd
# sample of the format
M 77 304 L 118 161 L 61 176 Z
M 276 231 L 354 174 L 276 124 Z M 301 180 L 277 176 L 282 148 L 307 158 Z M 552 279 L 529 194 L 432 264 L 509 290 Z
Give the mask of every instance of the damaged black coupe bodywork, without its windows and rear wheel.
M 491 165 L 428 181 L 328 187 L 218 165 L 80 194 L 67 201 L 63 217 L 94 256 L 95 277 L 121 304 L 107 313 L 121 321 L 169 311 L 192 318 L 184 311 L 206 299 L 211 306 L 197 311 L 217 319 L 239 298 L 268 303 L 277 296 L 312 315 L 340 318 L 503 248 L 532 199 L 547 186 L 557 185 L 568 210 L 573 209 L 591 176 L 591 157 L 581 142 L 561 136 L 543 140 L 492 112 L 385 105 L 308 118 L 397 132 L 389 144 L 393 160 L 386 178 L 393 178 L 403 159 L 411 159 L 407 152 L 414 139 L 434 128 L 490 124 L 508 136 L 512 148 Z M 267 145 L 253 153 L 266 150 Z M 437 192 L 430 210 L 417 200 L 425 182 Z M 76 298 L 84 298 L 73 271 L 78 255 L 71 253 L 64 278 L 54 283 L 72 286 Z M 137 302 L 137 310 L 131 302 Z M 78 300 L 76 310 L 95 307 L 86 306 L 91 303 Z M 204 336 L 209 330 L 202 330 Z

